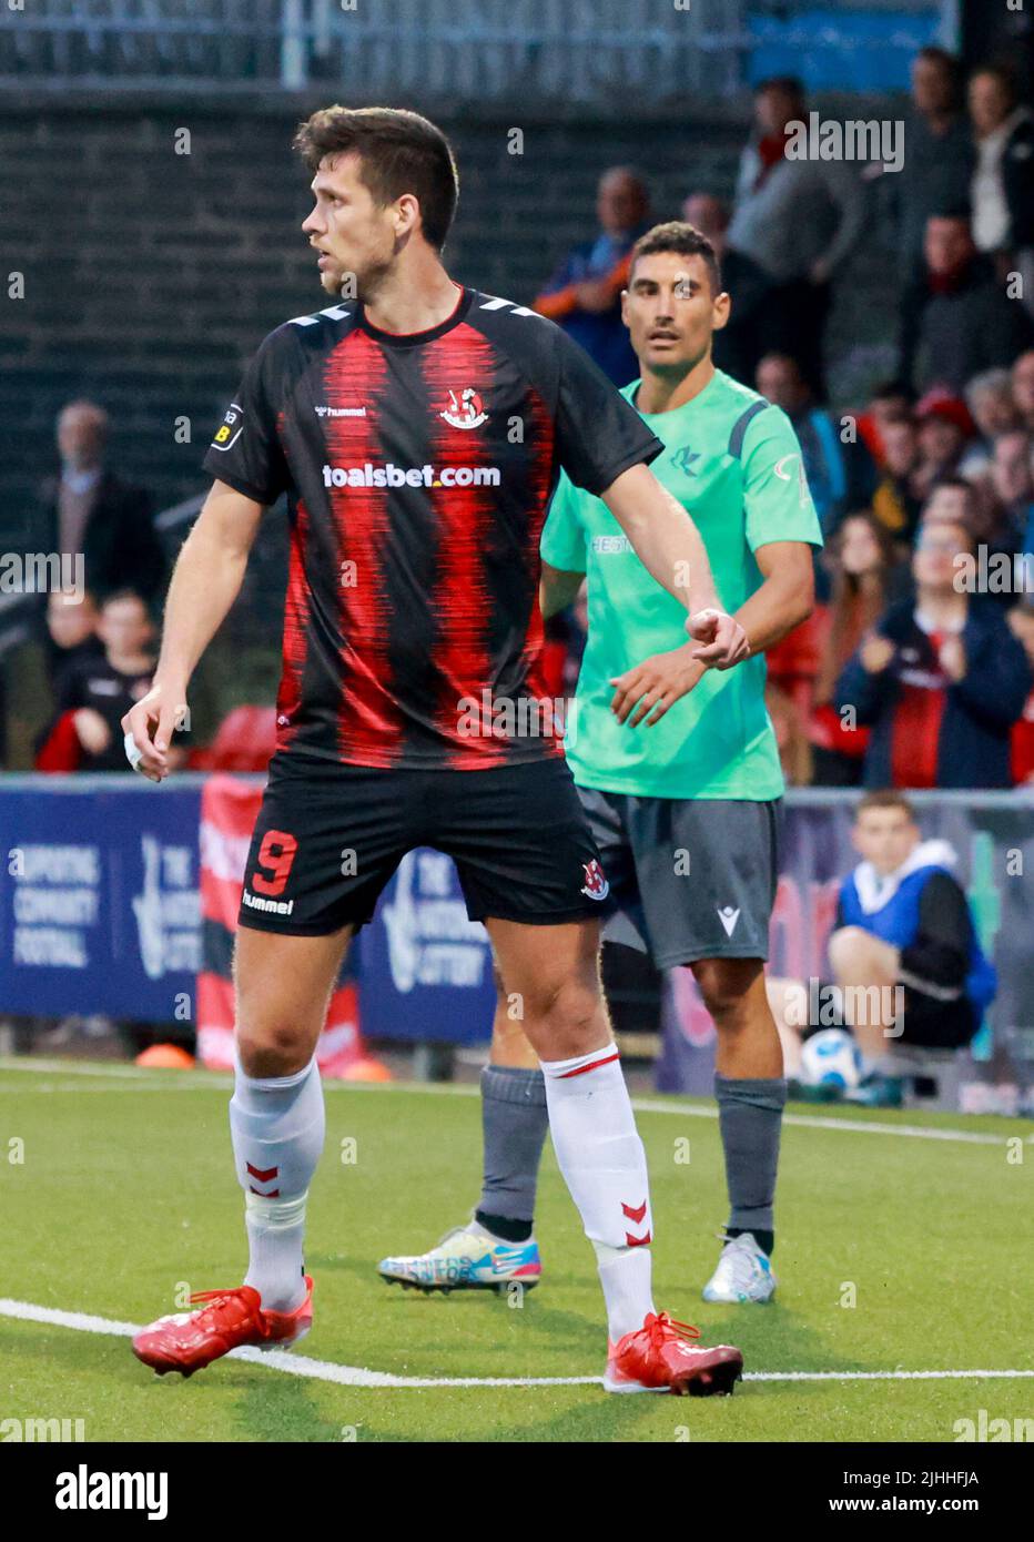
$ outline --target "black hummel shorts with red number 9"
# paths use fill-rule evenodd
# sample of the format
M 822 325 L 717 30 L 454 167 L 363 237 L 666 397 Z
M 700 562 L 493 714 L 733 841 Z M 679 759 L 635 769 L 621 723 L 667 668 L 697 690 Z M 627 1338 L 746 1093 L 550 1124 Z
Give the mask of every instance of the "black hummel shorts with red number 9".
M 452 857 L 472 921 L 601 916 L 607 880 L 561 756 L 487 771 L 382 771 L 277 752 L 237 924 L 287 936 L 362 927 L 407 851 Z

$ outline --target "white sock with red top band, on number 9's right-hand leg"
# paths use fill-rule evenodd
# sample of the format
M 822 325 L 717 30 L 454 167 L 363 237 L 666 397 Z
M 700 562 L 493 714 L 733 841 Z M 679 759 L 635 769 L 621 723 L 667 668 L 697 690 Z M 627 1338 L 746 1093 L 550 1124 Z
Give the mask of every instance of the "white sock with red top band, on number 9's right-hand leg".
M 553 1150 L 596 1247 L 612 1342 L 643 1326 L 650 1294 L 650 1186 L 618 1049 L 542 1061 Z

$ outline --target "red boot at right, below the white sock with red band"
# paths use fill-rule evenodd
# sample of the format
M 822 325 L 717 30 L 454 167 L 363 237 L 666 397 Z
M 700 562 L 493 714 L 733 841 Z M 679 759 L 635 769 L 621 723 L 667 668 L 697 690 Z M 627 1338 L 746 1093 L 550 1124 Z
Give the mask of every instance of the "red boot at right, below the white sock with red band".
M 676 1323 L 667 1312 L 647 1312 L 636 1332 L 607 1345 L 607 1392 L 675 1392 L 713 1397 L 732 1392 L 743 1375 L 743 1355 L 732 1345 L 704 1349 L 686 1340 L 700 1329 Z

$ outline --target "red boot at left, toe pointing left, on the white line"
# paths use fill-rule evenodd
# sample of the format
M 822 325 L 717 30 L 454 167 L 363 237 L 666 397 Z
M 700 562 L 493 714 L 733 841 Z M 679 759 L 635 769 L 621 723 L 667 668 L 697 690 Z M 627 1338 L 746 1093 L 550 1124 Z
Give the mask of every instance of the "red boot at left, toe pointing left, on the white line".
M 200 1291 L 191 1301 L 205 1301 L 199 1312 L 159 1317 L 133 1340 L 137 1360 L 159 1375 L 179 1371 L 193 1375 L 240 1345 L 256 1349 L 291 1349 L 313 1326 L 313 1281 L 305 1275 L 305 1300 L 293 1312 L 262 1311 L 253 1286 L 233 1291 Z

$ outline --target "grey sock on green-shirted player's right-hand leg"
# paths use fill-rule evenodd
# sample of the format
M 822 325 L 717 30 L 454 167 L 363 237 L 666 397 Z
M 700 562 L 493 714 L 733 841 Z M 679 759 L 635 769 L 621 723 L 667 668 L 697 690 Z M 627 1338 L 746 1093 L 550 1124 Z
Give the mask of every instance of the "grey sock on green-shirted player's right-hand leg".
M 772 1232 L 786 1081 L 715 1073 L 715 1098 L 726 1153 L 729 1226 L 755 1237 L 760 1231 Z

